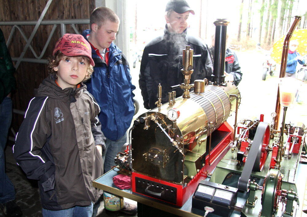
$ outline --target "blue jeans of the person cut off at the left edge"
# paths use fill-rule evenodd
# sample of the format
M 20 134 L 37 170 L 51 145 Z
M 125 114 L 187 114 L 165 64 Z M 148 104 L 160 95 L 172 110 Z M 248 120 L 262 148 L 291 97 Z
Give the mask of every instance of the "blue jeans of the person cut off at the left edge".
M 15 200 L 15 189 L 5 173 L 4 148 L 6 145 L 7 134 L 12 121 L 12 100 L 6 97 L 0 104 L 0 203 Z

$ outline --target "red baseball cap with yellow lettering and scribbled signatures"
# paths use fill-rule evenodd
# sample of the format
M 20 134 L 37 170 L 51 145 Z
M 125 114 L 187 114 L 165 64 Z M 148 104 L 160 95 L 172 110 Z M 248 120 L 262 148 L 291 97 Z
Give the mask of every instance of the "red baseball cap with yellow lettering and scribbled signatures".
M 58 50 L 66 56 L 87 56 L 90 58 L 90 64 L 95 66 L 91 45 L 82 35 L 66 33 L 56 42 L 52 55 Z

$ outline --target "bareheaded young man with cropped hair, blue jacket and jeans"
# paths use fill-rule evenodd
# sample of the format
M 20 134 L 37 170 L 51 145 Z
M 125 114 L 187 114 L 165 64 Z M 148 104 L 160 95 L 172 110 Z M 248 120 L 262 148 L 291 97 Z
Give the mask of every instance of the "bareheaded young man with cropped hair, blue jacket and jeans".
M 134 115 L 132 91 L 135 86 L 131 83 L 128 61 L 113 42 L 119 30 L 119 17 L 109 8 L 98 7 L 91 13 L 90 24 L 91 29 L 82 33 L 91 44 L 95 62 L 87 89 L 101 109 L 101 129 L 107 138 L 106 151 L 102 157 L 104 172 L 108 172 L 115 165 L 114 157 L 125 148 L 126 131 Z M 120 210 L 125 215 L 135 215 L 136 211 L 137 207 L 129 203 L 125 203 Z

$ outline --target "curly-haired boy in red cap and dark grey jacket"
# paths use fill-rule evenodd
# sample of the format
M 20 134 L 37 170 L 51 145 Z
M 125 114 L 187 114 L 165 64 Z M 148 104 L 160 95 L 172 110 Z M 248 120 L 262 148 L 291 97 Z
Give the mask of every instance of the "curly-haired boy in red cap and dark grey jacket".
M 103 174 L 105 137 L 99 106 L 83 84 L 93 66 L 82 35 L 61 37 L 19 128 L 14 157 L 38 180 L 43 216 L 91 216 L 102 194 L 92 181 Z

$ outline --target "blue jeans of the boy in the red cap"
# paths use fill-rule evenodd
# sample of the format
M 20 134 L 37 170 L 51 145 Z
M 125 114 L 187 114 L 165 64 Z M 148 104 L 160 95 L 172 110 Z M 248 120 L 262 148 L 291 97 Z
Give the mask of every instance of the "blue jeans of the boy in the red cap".
M 86 207 L 75 206 L 69 209 L 62 210 L 42 210 L 44 217 L 91 217 L 93 213 L 93 203 Z

